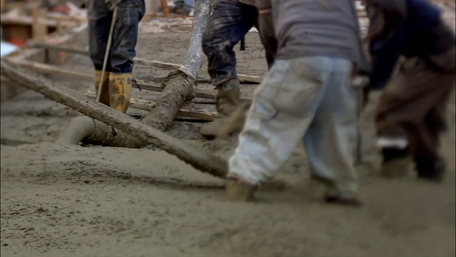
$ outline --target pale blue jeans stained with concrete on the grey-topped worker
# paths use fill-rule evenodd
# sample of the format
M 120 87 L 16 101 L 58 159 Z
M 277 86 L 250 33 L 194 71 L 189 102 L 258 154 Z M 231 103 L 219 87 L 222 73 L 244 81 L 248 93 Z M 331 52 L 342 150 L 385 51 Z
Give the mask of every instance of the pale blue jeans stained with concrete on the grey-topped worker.
M 254 94 L 229 176 L 259 183 L 304 141 L 311 173 L 352 195 L 357 190 L 356 89 L 346 59 L 276 60 Z

